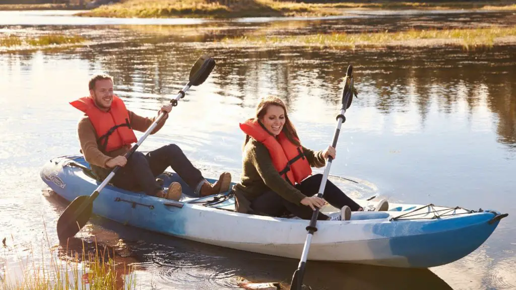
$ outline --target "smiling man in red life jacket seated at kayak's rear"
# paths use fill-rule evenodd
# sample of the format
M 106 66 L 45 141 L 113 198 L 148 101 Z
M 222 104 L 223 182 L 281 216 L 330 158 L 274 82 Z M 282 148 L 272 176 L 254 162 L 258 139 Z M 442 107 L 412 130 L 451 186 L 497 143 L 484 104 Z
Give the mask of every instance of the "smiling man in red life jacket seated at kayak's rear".
M 80 148 L 93 173 L 101 180 L 118 165 L 122 168 L 111 179 L 113 185 L 127 190 L 143 190 L 150 196 L 179 200 L 182 192 L 179 183 L 172 183 L 168 191 L 164 192 L 156 180 L 156 176 L 170 166 L 200 196 L 229 190 L 229 172 L 223 172 L 215 184 L 208 183 L 175 144 L 156 149 L 147 155 L 136 151 L 126 159 L 123 155 L 132 148 L 132 143 L 138 141 L 133 130 L 145 132 L 157 116 L 149 119 L 127 110 L 123 101 L 113 93 L 113 81 L 109 75 L 94 75 L 88 87 L 89 96 L 70 104 L 85 112 L 77 127 Z M 151 134 L 163 127 L 171 109 L 172 105 L 161 107 L 158 116 L 164 113 L 167 115 Z

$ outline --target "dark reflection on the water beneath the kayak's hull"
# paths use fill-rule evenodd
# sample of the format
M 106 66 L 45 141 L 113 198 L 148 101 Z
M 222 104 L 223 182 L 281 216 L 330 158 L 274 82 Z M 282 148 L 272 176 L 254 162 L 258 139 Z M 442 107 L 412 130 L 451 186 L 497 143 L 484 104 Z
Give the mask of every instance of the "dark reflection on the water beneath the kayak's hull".
M 225 249 L 123 227 L 102 218 L 94 218 L 92 222 L 99 243 L 104 242 L 99 233 L 116 232 L 130 252 L 132 266 L 139 271 L 145 270 L 138 272 L 138 285 L 148 285 L 152 281 L 157 288 L 235 289 L 241 280 L 276 281 L 287 285 L 298 264 L 294 259 Z M 125 259 L 129 261 L 127 256 Z M 452 289 L 429 269 L 312 261 L 307 264 L 303 281 L 314 290 L 394 290 L 413 289 L 414 285 L 418 289 Z

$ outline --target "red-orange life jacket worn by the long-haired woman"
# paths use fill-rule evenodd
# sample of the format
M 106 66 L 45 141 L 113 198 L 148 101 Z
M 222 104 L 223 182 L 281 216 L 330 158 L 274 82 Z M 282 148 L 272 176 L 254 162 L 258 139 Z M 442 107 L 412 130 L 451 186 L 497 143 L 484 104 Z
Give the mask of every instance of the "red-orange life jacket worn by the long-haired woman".
M 240 123 L 240 129 L 267 147 L 274 168 L 291 184 L 300 183 L 312 174 L 312 168 L 301 146 L 288 140 L 283 132 L 275 138 L 255 119 Z

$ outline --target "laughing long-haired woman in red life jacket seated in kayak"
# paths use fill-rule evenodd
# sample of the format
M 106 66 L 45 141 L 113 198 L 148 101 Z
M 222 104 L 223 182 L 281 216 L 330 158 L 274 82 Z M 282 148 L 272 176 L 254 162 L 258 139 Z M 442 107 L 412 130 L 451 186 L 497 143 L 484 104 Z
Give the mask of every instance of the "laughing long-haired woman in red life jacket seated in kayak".
M 325 166 L 328 156 L 335 158 L 335 148 L 314 152 L 301 146 L 281 99 L 263 99 L 256 107 L 256 118 L 240 124 L 240 128 L 246 140 L 241 181 L 234 187 L 237 212 L 275 217 L 289 212 L 311 219 L 325 199 L 340 208 L 341 214 L 329 217 L 319 212 L 318 220 L 349 220 L 351 211 L 363 211 L 330 181 L 325 186 L 325 199 L 315 196 L 322 174 L 311 175 L 311 167 Z M 382 200 L 376 210 L 388 207 Z

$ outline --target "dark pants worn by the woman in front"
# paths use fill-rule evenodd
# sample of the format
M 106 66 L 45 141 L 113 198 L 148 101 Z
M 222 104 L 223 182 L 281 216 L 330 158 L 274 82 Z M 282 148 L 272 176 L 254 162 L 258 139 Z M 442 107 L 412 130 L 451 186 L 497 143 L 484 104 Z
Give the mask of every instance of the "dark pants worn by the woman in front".
M 322 174 L 315 174 L 309 178 L 303 180 L 301 183 L 296 184 L 296 188 L 299 189 L 305 196 L 311 197 L 316 195 L 319 191 L 321 184 Z M 340 188 L 334 185 L 331 181 L 326 182 L 324 188 L 324 195 L 322 196 L 329 204 L 338 208 L 339 210 L 347 205 L 351 208 L 351 211 L 356 212 L 359 210 L 360 205 L 350 199 Z M 251 202 L 251 208 L 255 212 L 263 213 L 268 216 L 281 216 L 285 210 L 294 214 L 302 219 L 311 219 L 313 210 L 307 205 L 297 205 L 289 202 L 282 198 L 274 191 L 267 191 L 263 195 L 257 197 Z M 327 220 L 328 216 L 321 214 L 317 216 L 318 220 Z

